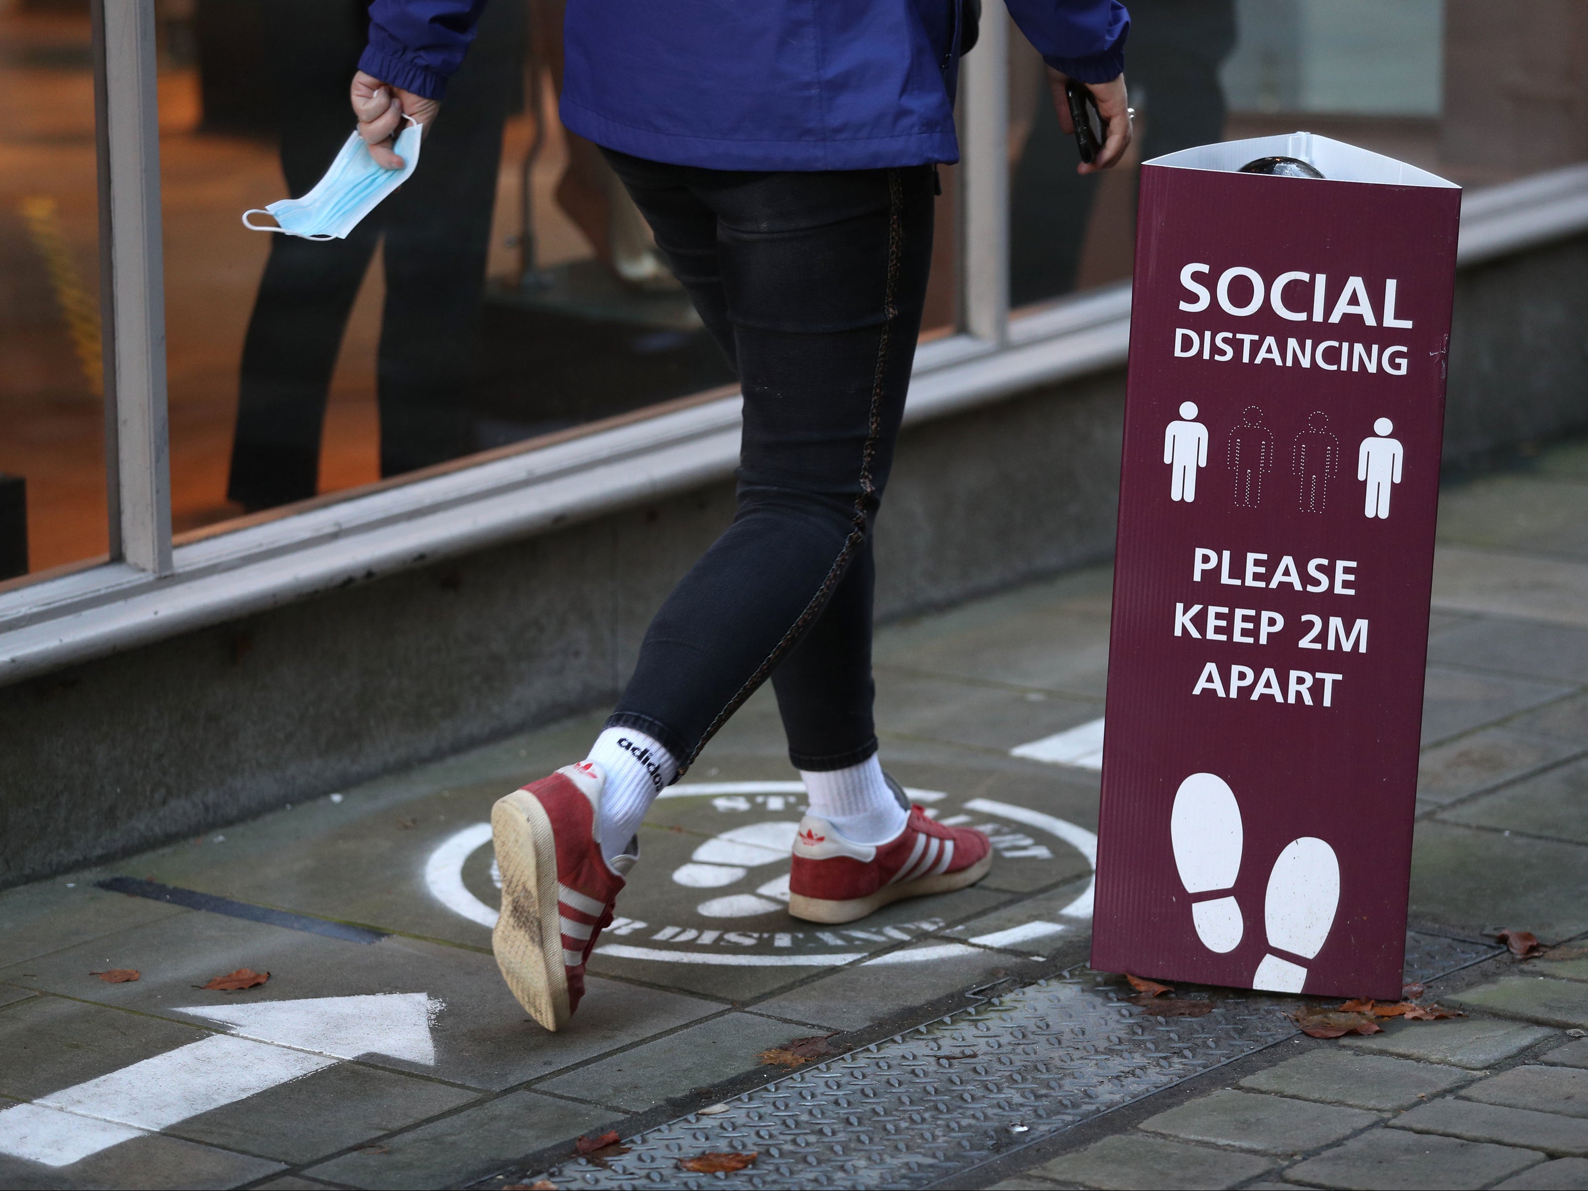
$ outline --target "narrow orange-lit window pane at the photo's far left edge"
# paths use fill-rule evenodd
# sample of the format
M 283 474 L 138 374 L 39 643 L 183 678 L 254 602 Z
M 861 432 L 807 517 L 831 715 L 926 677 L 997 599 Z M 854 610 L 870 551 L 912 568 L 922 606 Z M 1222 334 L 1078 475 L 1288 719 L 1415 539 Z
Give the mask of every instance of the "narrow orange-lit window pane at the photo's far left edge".
M 108 549 L 87 5 L 0 0 L 0 580 Z

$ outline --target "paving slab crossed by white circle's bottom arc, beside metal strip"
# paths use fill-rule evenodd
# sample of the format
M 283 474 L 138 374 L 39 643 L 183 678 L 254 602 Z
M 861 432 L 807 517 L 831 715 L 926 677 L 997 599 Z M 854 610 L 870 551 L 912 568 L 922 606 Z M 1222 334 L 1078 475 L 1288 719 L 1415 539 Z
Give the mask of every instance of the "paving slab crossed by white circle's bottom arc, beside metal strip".
M 813 980 L 756 1005 L 757 1013 L 831 1029 L 861 1029 L 912 1005 L 1004 977 L 1032 961 L 964 943 L 921 943 Z

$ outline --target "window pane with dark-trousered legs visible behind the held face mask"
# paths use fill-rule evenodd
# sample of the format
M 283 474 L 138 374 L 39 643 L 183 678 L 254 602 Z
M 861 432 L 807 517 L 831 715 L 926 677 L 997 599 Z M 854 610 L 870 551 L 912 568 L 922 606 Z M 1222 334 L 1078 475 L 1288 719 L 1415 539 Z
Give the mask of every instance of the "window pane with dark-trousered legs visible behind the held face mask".
M 730 380 L 594 146 L 556 122 L 561 3 L 499 2 L 419 168 L 335 241 L 238 214 L 353 132 L 360 0 L 162 0 L 178 532 Z

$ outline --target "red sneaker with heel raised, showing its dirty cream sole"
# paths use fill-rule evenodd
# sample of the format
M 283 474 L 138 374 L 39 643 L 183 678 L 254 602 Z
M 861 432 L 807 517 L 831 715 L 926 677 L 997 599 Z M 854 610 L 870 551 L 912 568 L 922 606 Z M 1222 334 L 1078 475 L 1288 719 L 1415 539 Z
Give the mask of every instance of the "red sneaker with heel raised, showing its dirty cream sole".
M 565 765 L 497 799 L 491 837 L 502 870 L 502 916 L 491 932 L 502 978 L 546 1029 L 561 1029 L 584 996 L 584 964 L 638 848 L 602 856 L 597 811 L 607 775 Z

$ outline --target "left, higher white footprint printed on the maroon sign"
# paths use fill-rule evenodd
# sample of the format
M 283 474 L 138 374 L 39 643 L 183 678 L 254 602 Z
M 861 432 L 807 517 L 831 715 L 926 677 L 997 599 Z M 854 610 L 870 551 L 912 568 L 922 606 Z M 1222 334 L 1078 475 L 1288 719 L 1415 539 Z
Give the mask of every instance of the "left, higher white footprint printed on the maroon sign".
M 1235 802 L 1229 783 L 1216 773 L 1193 773 L 1181 781 L 1175 791 L 1174 810 L 1169 813 L 1169 840 L 1174 845 L 1180 883 L 1188 894 L 1196 897 L 1232 889 L 1235 877 L 1240 875 L 1245 835 L 1240 826 L 1240 804 Z M 1191 923 L 1202 945 L 1220 954 L 1240 946 L 1240 937 L 1245 934 L 1240 905 L 1229 892 L 1223 897 L 1193 900 Z

